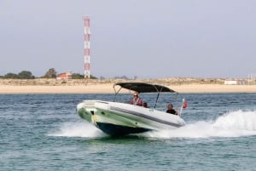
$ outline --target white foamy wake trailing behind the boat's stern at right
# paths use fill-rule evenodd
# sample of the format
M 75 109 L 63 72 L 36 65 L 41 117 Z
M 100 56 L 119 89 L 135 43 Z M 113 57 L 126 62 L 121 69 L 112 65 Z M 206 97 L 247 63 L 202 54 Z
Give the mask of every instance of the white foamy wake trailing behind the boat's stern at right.
M 211 138 L 256 135 L 256 111 L 231 111 L 216 121 L 189 123 L 182 128 L 144 134 L 154 138 Z

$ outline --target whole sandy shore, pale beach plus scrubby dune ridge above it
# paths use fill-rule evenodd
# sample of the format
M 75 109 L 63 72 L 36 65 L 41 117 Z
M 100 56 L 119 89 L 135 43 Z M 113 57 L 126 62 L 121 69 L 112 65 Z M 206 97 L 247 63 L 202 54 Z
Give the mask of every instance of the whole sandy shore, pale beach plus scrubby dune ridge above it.
M 113 94 L 113 84 L 142 82 L 165 85 L 178 93 L 256 93 L 256 85 L 224 85 L 224 79 L 0 79 L 0 94 Z

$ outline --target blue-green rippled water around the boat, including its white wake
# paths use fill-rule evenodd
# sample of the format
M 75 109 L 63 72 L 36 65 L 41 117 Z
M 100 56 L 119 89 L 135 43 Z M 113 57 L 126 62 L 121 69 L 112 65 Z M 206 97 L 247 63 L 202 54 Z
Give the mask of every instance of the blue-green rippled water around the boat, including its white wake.
M 0 170 L 256 170 L 256 94 L 179 97 L 185 127 L 110 138 L 75 110 L 112 94 L 2 94 Z

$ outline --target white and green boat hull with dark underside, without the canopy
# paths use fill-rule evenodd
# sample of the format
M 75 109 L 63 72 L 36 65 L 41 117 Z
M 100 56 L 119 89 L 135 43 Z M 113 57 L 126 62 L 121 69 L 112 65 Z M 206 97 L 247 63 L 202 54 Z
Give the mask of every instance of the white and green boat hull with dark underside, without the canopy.
M 84 100 L 77 111 L 84 120 L 112 136 L 179 128 L 185 124 L 181 117 L 165 111 L 118 102 Z

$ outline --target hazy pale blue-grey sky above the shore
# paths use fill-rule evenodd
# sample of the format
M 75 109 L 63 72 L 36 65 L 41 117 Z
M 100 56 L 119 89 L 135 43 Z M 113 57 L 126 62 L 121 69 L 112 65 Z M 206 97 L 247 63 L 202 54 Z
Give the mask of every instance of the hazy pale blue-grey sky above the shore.
M 95 77 L 248 77 L 255 0 L 0 0 L 0 75 L 84 74 L 90 17 Z

